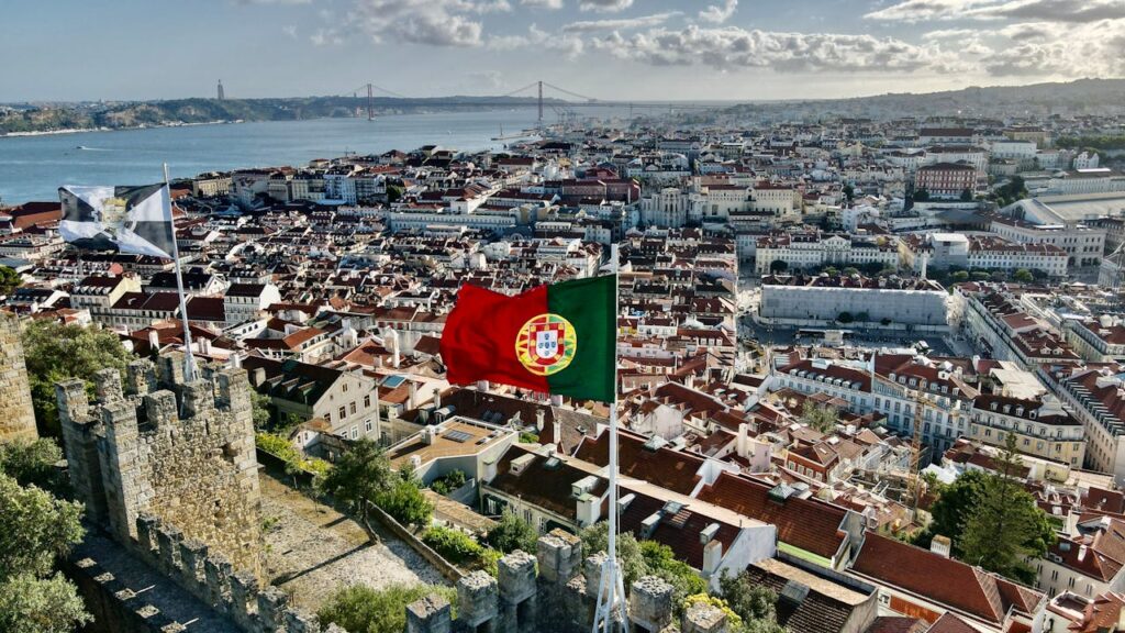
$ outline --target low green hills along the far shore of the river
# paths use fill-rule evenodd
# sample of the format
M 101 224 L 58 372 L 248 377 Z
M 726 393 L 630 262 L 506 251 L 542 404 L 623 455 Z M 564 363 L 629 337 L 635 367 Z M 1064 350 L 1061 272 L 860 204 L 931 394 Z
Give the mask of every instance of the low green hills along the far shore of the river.
M 377 114 L 465 110 L 528 106 L 526 97 L 377 98 Z M 551 104 L 560 101 L 550 100 Z M 296 121 L 367 116 L 366 97 L 295 97 L 278 99 L 173 99 L 54 106 L 0 106 L 0 135 L 18 132 L 126 128 L 212 123 L 218 121 Z

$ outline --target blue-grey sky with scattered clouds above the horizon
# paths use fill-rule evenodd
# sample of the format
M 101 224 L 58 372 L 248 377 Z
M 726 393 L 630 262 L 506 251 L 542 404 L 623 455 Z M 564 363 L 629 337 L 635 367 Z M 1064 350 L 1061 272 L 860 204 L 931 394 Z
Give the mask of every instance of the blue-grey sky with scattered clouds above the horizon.
M 4 0 L 0 101 L 776 99 L 1125 75 L 1125 0 Z

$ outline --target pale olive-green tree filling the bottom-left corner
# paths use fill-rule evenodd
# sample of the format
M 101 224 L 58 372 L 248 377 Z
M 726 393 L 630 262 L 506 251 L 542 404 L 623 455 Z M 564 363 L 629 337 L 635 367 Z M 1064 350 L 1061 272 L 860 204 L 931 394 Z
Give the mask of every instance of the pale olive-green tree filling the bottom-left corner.
M 82 540 L 82 506 L 0 473 L 0 631 L 64 633 L 89 622 L 55 560 Z

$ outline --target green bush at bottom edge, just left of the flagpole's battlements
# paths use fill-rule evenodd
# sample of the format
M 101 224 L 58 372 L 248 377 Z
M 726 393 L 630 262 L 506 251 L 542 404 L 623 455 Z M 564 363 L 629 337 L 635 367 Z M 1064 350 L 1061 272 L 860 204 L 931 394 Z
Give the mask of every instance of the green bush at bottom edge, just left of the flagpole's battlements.
M 350 633 L 402 633 L 406 630 L 406 606 L 439 594 L 456 608 L 457 590 L 429 585 L 392 585 L 372 589 L 352 585 L 336 590 L 316 613 L 321 625 L 335 624 Z

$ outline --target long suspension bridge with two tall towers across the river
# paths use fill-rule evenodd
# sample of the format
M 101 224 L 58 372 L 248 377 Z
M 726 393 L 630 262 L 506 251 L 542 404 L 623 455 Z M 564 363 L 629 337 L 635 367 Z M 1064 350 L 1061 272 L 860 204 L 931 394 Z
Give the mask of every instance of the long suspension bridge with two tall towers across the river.
M 544 96 L 544 89 L 547 93 Z M 376 99 L 384 99 L 387 97 L 394 99 L 400 99 L 408 102 L 433 102 L 438 99 L 450 99 L 442 97 L 408 97 L 394 90 L 388 90 L 380 87 L 377 83 L 368 82 L 362 86 L 349 90 L 352 98 L 357 99 L 357 104 L 361 104 L 362 95 L 367 95 L 367 117 L 369 119 L 375 118 Z M 551 95 L 554 92 L 554 95 Z M 341 96 L 346 96 L 346 92 Z M 555 114 L 565 116 L 572 108 L 628 108 L 629 118 L 632 118 L 633 110 L 668 110 L 669 113 L 676 110 L 703 110 L 703 109 L 714 109 L 714 105 L 699 105 L 691 102 L 675 102 L 675 101 L 624 101 L 624 100 L 613 100 L 613 99 L 598 99 L 596 97 L 590 97 L 587 95 L 582 95 L 575 92 L 574 90 L 568 90 L 566 88 L 560 88 L 554 83 L 547 81 L 532 81 L 531 83 L 506 92 L 504 95 L 495 95 L 490 97 L 464 97 L 464 105 L 467 106 L 478 106 L 478 107 L 518 107 L 523 106 L 521 101 L 513 101 L 520 97 L 531 97 L 534 98 L 534 105 L 539 110 L 539 123 L 543 122 L 543 115 L 546 109 L 551 109 Z

